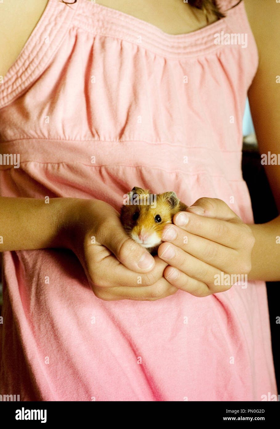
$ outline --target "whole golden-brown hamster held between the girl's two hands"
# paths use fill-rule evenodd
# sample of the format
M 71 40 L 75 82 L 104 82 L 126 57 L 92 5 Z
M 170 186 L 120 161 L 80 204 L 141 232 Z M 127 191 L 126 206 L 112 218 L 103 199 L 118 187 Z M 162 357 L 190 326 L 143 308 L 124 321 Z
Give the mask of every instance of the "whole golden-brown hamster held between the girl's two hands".
M 127 196 L 120 221 L 131 239 L 156 254 L 165 225 L 172 224 L 173 216 L 188 206 L 172 191 L 150 194 L 149 190 L 135 186 Z

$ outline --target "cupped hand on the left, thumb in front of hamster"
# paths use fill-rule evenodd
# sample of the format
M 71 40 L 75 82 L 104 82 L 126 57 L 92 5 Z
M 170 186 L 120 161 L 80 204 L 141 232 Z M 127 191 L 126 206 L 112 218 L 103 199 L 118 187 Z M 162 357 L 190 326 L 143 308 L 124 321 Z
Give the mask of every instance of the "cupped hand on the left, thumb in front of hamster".
M 98 298 L 155 301 L 177 292 L 163 276 L 167 263 L 128 237 L 110 204 L 77 199 L 67 219 L 65 247 L 79 258 Z

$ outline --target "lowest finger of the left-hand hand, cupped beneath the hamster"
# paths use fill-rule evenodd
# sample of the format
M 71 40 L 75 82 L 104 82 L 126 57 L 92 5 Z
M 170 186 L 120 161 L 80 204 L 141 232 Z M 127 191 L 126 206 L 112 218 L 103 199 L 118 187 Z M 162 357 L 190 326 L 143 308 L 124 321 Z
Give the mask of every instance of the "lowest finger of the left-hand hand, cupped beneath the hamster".
M 95 295 L 104 301 L 132 299 L 135 301 L 156 301 L 177 292 L 178 288 L 171 285 L 164 277 L 150 286 L 144 287 L 93 287 Z

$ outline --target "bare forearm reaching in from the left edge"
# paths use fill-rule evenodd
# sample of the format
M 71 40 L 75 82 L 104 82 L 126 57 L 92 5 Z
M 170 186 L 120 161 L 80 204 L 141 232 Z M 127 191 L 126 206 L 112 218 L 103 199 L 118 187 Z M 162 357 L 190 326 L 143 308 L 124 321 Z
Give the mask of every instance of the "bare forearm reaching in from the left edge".
M 0 251 L 65 247 L 65 229 L 77 199 L 0 197 Z M 3 237 L 3 239 L 2 239 Z

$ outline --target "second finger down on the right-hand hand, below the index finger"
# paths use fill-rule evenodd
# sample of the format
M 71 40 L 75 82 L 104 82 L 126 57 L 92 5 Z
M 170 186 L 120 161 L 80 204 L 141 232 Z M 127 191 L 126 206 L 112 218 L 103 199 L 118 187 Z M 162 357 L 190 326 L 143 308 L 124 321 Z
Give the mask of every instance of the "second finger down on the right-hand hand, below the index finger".
M 171 236 L 175 238 L 170 239 Z M 174 244 L 188 254 L 223 271 L 234 271 L 238 263 L 239 253 L 235 249 L 191 234 L 175 225 L 167 226 L 164 229 L 162 240 Z

